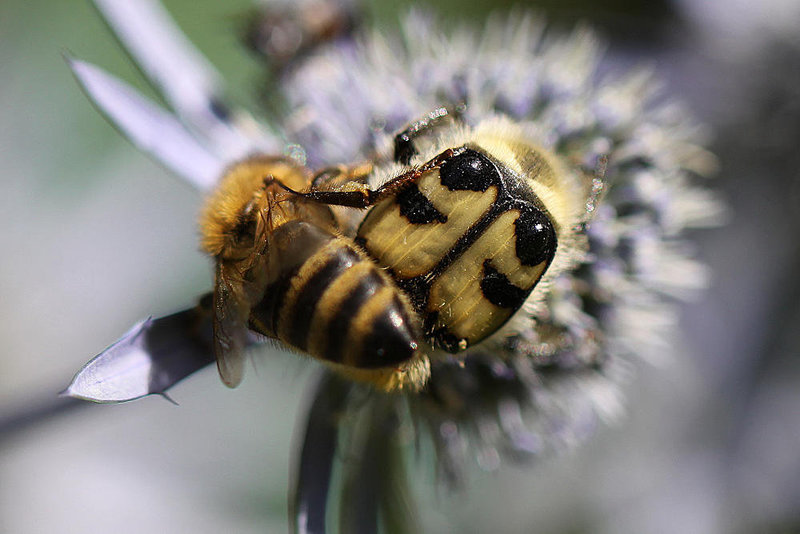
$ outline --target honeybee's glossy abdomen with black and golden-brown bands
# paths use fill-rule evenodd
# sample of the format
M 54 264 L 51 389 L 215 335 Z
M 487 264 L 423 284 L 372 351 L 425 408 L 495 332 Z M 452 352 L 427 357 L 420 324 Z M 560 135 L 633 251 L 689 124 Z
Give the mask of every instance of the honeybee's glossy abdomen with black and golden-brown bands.
M 332 363 L 377 369 L 410 360 L 414 317 L 391 278 L 349 239 L 293 221 L 269 238 L 268 285 L 250 327 Z

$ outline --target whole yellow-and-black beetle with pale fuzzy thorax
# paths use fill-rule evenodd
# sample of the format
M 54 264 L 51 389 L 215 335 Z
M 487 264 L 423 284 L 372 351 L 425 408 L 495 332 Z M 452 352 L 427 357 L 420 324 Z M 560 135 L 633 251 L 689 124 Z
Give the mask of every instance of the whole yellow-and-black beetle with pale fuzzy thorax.
M 463 124 L 441 108 L 395 137 L 394 164 L 350 191 L 305 193 L 371 208 L 355 242 L 411 300 L 424 340 L 464 351 L 497 332 L 580 258 L 591 182 L 517 123 Z M 596 192 L 595 192 L 596 193 Z

